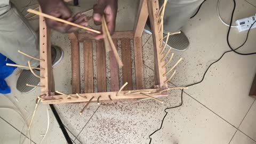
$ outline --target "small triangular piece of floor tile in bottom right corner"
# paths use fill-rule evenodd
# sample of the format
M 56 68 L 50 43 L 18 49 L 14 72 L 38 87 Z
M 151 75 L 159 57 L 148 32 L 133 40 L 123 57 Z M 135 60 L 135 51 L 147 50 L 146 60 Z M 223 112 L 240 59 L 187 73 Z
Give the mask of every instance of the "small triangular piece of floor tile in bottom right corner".
M 234 138 L 230 141 L 230 144 L 255 144 L 256 142 L 247 137 L 240 131 L 237 131 Z

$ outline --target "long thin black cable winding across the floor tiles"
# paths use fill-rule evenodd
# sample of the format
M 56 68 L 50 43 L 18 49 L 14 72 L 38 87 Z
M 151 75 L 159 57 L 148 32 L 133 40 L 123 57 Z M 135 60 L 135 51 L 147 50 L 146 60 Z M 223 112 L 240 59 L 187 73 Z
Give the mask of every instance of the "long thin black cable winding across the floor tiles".
M 234 2 L 235 2 L 235 0 L 234 0 Z M 235 8 L 235 6 L 234 6 L 234 8 Z M 228 29 L 228 34 L 227 34 L 227 35 L 229 35 L 229 31 L 230 31 L 230 28 L 231 28 L 231 22 L 232 22 L 232 19 L 233 19 L 233 15 L 234 15 L 234 10 L 233 10 L 233 13 L 232 13 L 232 15 L 231 15 L 231 21 L 230 21 L 230 25 L 229 25 L 229 29 Z M 256 21 L 255 21 L 255 22 L 256 22 Z M 253 22 L 252 26 L 254 25 L 255 22 Z M 246 38 L 245 38 L 245 41 L 243 42 L 243 44 L 240 45 L 239 47 L 237 47 L 235 50 L 241 48 L 241 47 L 247 42 L 247 39 L 248 39 L 248 36 L 249 36 L 249 33 L 250 33 L 250 30 L 251 30 L 252 26 L 249 28 L 249 30 L 248 30 L 248 32 L 247 32 L 247 35 L 246 35 Z M 228 37 L 228 36 L 227 36 L 227 37 Z M 228 39 L 227 39 L 227 42 L 228 42 Z M 214 62 L 211 63 L 211 65 L 205 70 L 204 75 L 203 75 L 203 78 L 201 79 L 201 81 L 196 82 L 196 83 L 194 83 L 194 84 L 189 84 L 189 85 L 187 85 L 187 86 L 193 86 L 193 85 L 196 85 L 196 84 L 199 84 L 199 83 L 203 82 L 204 77 L 205 77 L 207 71 L 210 69 L 210 67 L 211 67 L 214 63 L 216 63 L 216 62 L 218 62 L 219 60 L 221 60 L 222 57 L 223 57 L 226 53 L 232 52 L 232 51 L 233 51 L 233 52 L 236 52 L 236 51 L 235 51 L 234 49 L 232 49 L 231 47 L 230 47 L 230 49 L 231 49 L 230 51 L 224 52 L 218 60 L 216 60 L 216 61 L 214 61 Z M 243 55 L 244 55 L 244 54 L 243 54 Z M 250 54 L 247 54 L 247 55 L 250 55 Z M 163 126 L 163 123 L 164 123 L 164 119 L 165 119 L 166 115 L 168 114 L 168 112 L 167 112 L 166 110 L 167 110 L 167 109 L 172 109 L 172 108 L 177 108 L 177 107 L 182 106 L 182 104 L 183 104 L 183 90 L 184 90 L 184 89 L 181 90 L 181 103 L 180 103 L 180 105 L 174 106 L 174 107 L 169 107 L 169 108 L 165 108 L 165 109 L 164 109 L 164 111 L 165 111 L 166 114 L 164 115 L 164 117 L 163 117 L 163 119 L 162 119 L 161 126 L 159 127 L 159 129 L 155 130 L 153 133 L 151 133 L 151 134 L 149 135 L 149 139 L 150 139 L 150 140 L 149 140 L 149 144 L 151 143 L 151 140 L 152 140 L 152 138 L 150 138 L 151 135 L 153 135 L 154 133 L 156 133 L 157 131 L 159 131 L 159 130 L 162 129 L 162 126 Z

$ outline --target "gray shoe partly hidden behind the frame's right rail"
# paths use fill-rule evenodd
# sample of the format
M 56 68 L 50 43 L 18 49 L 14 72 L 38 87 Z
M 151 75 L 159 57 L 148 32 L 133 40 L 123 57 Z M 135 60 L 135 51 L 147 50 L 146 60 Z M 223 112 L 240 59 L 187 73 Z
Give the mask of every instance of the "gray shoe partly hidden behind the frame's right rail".
M 145 33 L 148 33 L 152 35 L 151 28 L 150 28 L 150 21 L 147 20 L 147 23 L 144 27 Z M 166 36 L 167 34 L 164 34 L 163 36 Z M 165 43 L 166 38 L 163 39 L 163 43 Z M 172 47 L 172 49 L 177 51 L 185 51 L 188 49 L 189 41 L 187 36 L 181 31 L 180 34 L 170 35 L 169 39 L 167 41 L 167 46 Z

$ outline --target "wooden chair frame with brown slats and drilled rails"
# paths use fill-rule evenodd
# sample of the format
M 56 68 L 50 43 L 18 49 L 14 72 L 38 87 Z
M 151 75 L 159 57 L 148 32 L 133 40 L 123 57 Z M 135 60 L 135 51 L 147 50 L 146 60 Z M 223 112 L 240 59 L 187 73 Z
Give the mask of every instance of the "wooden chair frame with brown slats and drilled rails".
M 51 63 L 51 30 L 46 27 L 43 17 L 39 17 L 40 28 L 40 59 L 44 61 L 40 62 L 41 70 L 41 98 L 45 104 L 49 103 L 74 103 L 74 102 L 109 102 L 109 101 L 122 101 L 122 100 L 137 100 L 149 98 L 148 95 L 142 92 L 150 92 L 151 97 L 164 97 L 168 95 L 168 85 L 166 82 L 166 69 L 162 68 L 165 65 L 165 61 L 161 61 L 164 55 L 161 55 L 161 47 L 159 41 L 162 38 L 158 33 L 158 19 L 157 13 L 159 10 L 158 0 L 141 0 L 139 5 L 139 11 L 137 21 L 133 31 L 119 31 L 115 32 L 112 36 L 114 43 L 116 39 L 121 39 L 122 51 L 130 53 L 130 39 L 133 39 L 134 44 L 134 60 L 135 60 L 135 77 L 137 90 L 132 90 L 132 76 L 131 76 L 131 58 L 122 55 L 124 62 L 123 73 L 128 71 L 123 77 L 123 82 L 128 82 L 126 89 L 118 93 L 119 79 L 118 79 L 118 65 L 115 59 L 111 59 L 110 51 L 110 75 L 111 75 L 111 92 L 106 92 L 106 73 L 101 73 L 100 70 L 106 72 L 105 60 L 97 60 L 97 80 L 98 80 L 98 93 L 93 93 L 93 71 L 92 71 L 92 41 L 93 36 L 87 33 L 72 33 L 69 34 L 71 43 L 71 69 L 72 69 L 72 93 L 57 95 L 54 91 L 54 78 L 52 72 Z M 153 33 L 153 48 L 154 48 L 154 63 L 155 63 L 155 86 L 154 89 L 144 89 L 143 86 L 143 64 L 142 64 L 142 45 L 141 36 L 143 28 L 145 27 L 147 18 L 150 18 L 151 30 Z M 85 69 L 85 93 L 80 93 L 80 72 L 79 72 L 79 42 L 84 43 L 84 65 Z M 104 57 L 105 49 L 102 49 L 103 42 L 97 43 L 97 58 Z M 121 44 L 122 45 L 122 44 Z M 129 69 L 130 68 L 130 69 Z M 100 71 L 100 72 L 99 72 Z M 129 72 L 130 71 L 130 72 Z M 115 75 L 117 78 L 115 78 Z M 123 74 L 124 75 L 124 74 Z M 78 93 L 78 94 L 76 94 Z M 117 94 L 118 93 L 118 94 Z M 100 98 L 100 99 L 99 99 Z

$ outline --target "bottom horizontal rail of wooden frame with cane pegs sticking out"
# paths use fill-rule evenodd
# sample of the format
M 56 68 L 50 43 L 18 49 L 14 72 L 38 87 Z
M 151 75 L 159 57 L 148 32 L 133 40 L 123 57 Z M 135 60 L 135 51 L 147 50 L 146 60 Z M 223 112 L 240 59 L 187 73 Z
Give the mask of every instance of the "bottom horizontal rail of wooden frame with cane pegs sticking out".
M 150 95 L 155 97 L 155 98 L 159 98 L 159 97 L 164 97 L 166 95 L 168 95 L 167 90 L 163 91 L 162 93 L 157 93 L 158 91 L 161 91 L 163 89 L 148 89 L 148 90 L 140 90 L 140 91 L 150 91 Z M 136 92 L 138 90 L 132 90 L 131 92 Z M 118 95 L 118 97 L 116 97 L 117 92 L 98 92 L 98 93 L 83 93 L 83 94 L 79 94 L 83 97 L 79 97 L 79 98 L 73 98 L 71 97 L 71 99 L 67 99 L 66 95 L 54 95 L 53 99 L 59 99 L 56 101 L 42 101 L 42 103 L 44 104 L 49 104 L 49 103 L 53 103 L 53 104 L 59 104 L 59 103 L 76 103 L 76 102 L 87 102 L 89 101 L 92 97 L 94 97 L 95 99 L 92 99 L 92 102 L 97 102 L 97 98 L 99 96 L 100 97 L 100 102 L 109 102 L 109 95 L 110 98 L 113 101 L 123 101 L 123 100 L 131 100 L 131 99 L 140 99 L 140 98 L 148 98 L 147 95 L 143 95 L 143 94 L 126 94 L 124 95 L 124 93 L 127 93 L 128 91 L 121 91 Z M 76 96 L 76 94 L 69 94 L 72 96 Z M 86 98 L 84 98 L 86 97 Z M 44 98 L 44 97 L 43 97 Z M 62 98 L 62 99 L 60 99 Z

